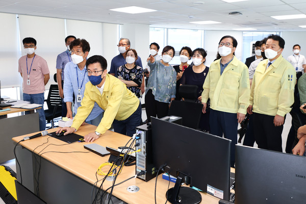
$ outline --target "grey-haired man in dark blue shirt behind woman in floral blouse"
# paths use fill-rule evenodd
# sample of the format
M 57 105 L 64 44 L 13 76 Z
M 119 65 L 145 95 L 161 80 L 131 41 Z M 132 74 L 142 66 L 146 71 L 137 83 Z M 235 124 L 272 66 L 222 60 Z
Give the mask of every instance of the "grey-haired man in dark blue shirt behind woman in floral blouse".
M 127 39 L 127 38 L 120 38 L 120 41 L 119 41 L 117 46 L 118 46 L 118 50 L 119 50 L 120 54 L 112 59 L 111 69 L 110 69 L 110 74 L 112 74 L 115 77 L 117 77 L 117 68 L 119 66 L 122 66 L 122 65 L 126 64 L 124 56 L 127 52 L 126 50 L 130 49 L 131 43 L 130 43 L 130 40 Z M 141 59 L 140 59 L 139 56 L 138 56 L 135 64 L 142 68 L 142 63 L 141 63 Z

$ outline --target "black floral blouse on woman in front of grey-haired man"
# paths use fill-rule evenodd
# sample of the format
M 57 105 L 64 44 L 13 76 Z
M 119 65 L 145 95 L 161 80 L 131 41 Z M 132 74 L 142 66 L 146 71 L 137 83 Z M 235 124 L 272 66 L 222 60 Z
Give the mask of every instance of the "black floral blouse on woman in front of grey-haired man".
M 127 87 L 130 89 L 135 95 L 140 98 L 142 96 L 140 86 L 142 83 L 142 74 L 143 69 L 140 66 L 135 65 L 134 68 L 128 69 L 125 64 L 118 67 L 117 69 L 117 78 L 119 80 L 125 80 L 125 81 L 133 81 L 138 86 L 130 86 Z

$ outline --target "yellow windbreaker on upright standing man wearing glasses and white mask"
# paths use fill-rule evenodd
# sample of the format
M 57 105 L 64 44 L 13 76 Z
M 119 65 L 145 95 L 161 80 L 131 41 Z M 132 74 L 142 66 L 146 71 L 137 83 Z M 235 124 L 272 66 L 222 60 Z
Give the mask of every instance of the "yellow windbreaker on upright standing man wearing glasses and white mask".
M 203 84 L 202 103 L 227 113 L 243 113 L 249 106 L 250 83 L 247 66 L 235 56 L 220 74 L 220 60 L 214 61 Z

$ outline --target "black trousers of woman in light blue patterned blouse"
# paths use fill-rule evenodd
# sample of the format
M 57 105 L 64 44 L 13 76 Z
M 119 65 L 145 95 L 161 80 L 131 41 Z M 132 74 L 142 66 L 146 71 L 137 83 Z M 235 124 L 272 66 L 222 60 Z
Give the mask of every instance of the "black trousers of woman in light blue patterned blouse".
M 162 118 L 168 115 L 169 104 L 155 100 L 152 89 L 145 94 L 144 103 L 148 122 L 151 122 L 151 116 Z

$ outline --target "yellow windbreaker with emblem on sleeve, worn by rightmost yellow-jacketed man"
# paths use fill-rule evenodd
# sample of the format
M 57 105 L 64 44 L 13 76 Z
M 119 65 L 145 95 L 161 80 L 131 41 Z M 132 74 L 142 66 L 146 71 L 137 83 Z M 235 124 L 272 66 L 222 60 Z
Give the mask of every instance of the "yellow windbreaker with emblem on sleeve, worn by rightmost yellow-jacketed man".
M 255 113 L 284 117 L 294 103 L 295 69 L 282 55 L 266 70 L 267 64 L 268 60 L 263 60 L 256 68 L 250 105 Z

